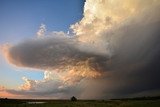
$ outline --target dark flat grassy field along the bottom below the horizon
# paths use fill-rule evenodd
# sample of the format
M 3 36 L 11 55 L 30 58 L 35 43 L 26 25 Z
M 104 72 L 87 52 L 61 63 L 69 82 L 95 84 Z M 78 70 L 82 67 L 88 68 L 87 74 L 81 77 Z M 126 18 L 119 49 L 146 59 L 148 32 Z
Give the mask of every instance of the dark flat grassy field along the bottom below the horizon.
M 111 100 L 111 101 L 10 101 L 0 102 L 0 107 L 160 107 L 160 100 Z

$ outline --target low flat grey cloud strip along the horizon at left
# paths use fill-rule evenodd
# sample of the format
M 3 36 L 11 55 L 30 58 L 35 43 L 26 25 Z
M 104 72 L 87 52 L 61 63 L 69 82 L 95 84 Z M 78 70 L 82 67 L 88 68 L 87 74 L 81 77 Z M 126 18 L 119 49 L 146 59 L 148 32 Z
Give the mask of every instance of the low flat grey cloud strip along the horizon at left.
M 50 86 L 50 87 L 48 87 Z M 38 88 L 37 85 L 32 87 Z M 21 95 L 25 98 L 61 98 L 61 99 L 68 99 L 71 96 L 75 95 L 78 96 L 81 93 L 81 90 L 74 87 L 65 87 L 63 89 L 59 89 L 56 85 L 53 84 L 41 84 L 46 90 L 38 89 L 38 90 L 14 90 L 14 89 L 6 89 L 5 91 L 10 94 L 14 95 Z

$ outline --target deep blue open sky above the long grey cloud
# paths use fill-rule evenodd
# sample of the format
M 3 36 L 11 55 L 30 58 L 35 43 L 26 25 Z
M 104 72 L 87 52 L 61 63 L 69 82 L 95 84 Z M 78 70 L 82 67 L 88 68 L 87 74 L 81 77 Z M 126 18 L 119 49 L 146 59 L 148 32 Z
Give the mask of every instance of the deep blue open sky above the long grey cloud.
M 0 43 L 32 37 L 41 23 L 68 31 L 82 17 L 84 0 L 1 0 Z M 15 39 L 16 38 L 16 39 Z

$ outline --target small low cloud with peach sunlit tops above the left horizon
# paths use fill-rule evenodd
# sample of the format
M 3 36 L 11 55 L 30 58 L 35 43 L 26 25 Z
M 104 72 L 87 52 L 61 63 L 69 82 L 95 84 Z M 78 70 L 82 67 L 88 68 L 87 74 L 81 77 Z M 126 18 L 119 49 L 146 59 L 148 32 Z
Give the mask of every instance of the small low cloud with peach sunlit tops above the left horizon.
M 62 77 L 56 72 L 45 71 L 43 80 L 30 80 L 23 77 L 22 79 L 25 83 L 19 87 L 20 90 L 7 90 L 7 92 L 23 96 L 32 96 L 33 98 L 35 96 L 57 98 L 57 95 L 69 92 L 68 89 L 72 88 L 69 87 L 69 85 L 64 85 L 65 81 L 61 78 Z M 63 97 L 67 98 L 65 94 Z

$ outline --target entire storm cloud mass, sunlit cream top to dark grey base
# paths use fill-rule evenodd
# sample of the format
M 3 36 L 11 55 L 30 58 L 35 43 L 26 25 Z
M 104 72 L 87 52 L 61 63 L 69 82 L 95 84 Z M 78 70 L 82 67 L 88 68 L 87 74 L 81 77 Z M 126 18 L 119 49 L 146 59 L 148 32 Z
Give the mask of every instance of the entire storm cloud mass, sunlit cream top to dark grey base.
M 45 71 L 43 80 L 23 77 L 20 90 L 7 92 L 95 99 L 160 94 L 159 7 L 158 0 L 87 0 L 84 17 L 71 25 L 74 36 L 53 32 L 4 45 L 9 63 Z

